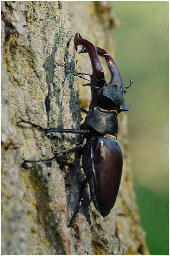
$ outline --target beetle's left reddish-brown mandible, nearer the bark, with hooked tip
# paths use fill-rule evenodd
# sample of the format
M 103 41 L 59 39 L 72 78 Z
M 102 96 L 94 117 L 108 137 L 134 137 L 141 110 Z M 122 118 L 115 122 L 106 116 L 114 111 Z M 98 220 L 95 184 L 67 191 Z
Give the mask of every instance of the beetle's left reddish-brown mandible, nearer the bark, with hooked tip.
M 105 79 L 104 71 L 100 64 L 96 46 L 93 43 L 89 42 L 88 40 L 85 40 L 84 38 L 82 38 L 78 32 L 75 34 L 74 43 L 75 43 L 76 50 L 78 45 L 82 45 L 83 48 L 84 47 L 86 48 L 86 52 L 88 52 L 89 54 L 92 69 L 93 69 L 92 76 L 97 80 Z

